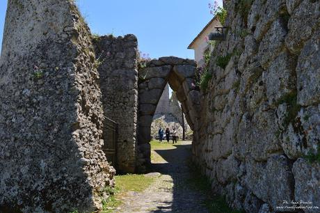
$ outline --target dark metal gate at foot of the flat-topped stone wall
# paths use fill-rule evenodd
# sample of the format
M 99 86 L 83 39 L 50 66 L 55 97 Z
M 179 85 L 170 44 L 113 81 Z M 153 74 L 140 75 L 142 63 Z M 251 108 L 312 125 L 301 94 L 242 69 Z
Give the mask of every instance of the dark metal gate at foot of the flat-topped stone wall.
M 112 166 L 117 165 L 118 123 L 104 117 L 104 145 L 102 150 Z

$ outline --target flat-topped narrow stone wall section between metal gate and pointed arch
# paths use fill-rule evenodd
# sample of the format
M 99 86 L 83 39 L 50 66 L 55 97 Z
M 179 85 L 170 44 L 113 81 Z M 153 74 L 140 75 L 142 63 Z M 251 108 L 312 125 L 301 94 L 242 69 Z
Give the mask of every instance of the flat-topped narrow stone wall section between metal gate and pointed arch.
M 134 35 L 102 36 L 94 41 L 104 116 L 118 123 L 117 169 L 133 173 L 137 141 L 138 42 Z M 112 138 L 107 125 L 104 133 L 104 143 L 108 145 Z

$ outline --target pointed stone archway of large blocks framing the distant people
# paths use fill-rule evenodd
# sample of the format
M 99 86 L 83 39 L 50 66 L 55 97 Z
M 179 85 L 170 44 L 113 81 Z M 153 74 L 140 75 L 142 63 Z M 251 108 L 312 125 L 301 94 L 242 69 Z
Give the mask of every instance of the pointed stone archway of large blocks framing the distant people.
M 173 56 L 152 60 L 138 70 L 138 151 L 144 159 L 141 162 L 150 164 L 150 127 L 167 84 L 175 91 L 187 123 L 195 130 L 195 120 L 200 114 L 200 92 L 194 85 L 195 70 L 195 61 Z M 197 135 L 193 137 L 196 141 Z M 137 165 L 138 169 L 143 170 L 143 167 L 143 164 Z

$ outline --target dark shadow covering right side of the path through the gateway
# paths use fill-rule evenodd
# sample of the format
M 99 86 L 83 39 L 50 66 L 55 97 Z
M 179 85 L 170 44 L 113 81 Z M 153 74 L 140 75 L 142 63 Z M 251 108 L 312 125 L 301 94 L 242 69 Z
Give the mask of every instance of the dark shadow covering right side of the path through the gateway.
M 174 145 L 175 149 L 154 149 L 166 162 L 152 164 L 152 171 L 162 175 L 170 175 L 173 188 L 173 198 L 166 206 L 159 205 L 157 210 L 151 212 L 208 212 L 204 201 L 206 195 L 191 186 L 191 141 L 182 141 Z

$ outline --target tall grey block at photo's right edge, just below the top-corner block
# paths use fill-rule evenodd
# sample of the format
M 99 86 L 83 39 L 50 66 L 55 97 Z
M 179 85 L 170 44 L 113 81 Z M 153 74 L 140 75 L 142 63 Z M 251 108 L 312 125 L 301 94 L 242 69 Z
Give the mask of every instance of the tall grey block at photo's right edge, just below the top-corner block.
M 319 6 L 320 7 L 320 6 Z M 319 12 L 320 13 L 320 12 Z M 320 101 L 320 29 L 305 43 L 296 67 L 298 104 Z

